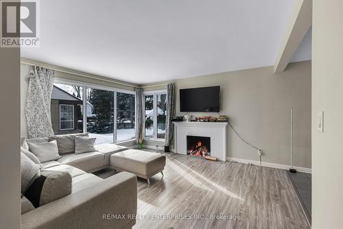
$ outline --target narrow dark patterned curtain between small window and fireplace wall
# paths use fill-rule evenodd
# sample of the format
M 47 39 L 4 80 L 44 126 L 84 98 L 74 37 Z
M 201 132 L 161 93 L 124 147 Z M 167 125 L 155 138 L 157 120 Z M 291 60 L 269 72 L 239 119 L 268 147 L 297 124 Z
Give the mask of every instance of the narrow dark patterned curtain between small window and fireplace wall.
M 171 118 L 175 115 L 175 90 L 174 84 L 167 86 L 167 117 L 165 118 L 165 146 L 173 143 L 173 123 Z

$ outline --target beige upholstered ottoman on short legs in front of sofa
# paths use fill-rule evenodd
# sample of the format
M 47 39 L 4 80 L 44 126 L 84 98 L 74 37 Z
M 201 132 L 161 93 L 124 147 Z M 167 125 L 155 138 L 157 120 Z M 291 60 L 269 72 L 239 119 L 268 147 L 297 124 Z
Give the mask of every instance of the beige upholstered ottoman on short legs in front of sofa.
M 165 156 L 156 153 L 144 152 L 137 149 L 128 149 L 110 156 L 110 166 L 118 171 L 128 171 L 134 173 L 140 178 L 147 179 L 156 173 L 163 176 L 165 168 Z

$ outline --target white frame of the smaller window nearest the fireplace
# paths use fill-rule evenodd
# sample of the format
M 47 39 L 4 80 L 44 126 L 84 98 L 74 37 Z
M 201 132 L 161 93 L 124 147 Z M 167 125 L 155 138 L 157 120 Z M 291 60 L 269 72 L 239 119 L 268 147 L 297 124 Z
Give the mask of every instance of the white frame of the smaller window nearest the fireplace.
M 143 130 L 144 130 L 144 134 L 143 134 L 143 139 L 147 140 L 147 141 L 161 141 L 164 142 L 165 138 L 157 138 L 157 95 L 167 95 L 167 90 L 163 89 L 163 90 L 156 90 L 156 91 L 143 91 L 143 117 L 144 117 L 144 121 L 143 121 Z M 154 109 L 154 125 L 153 125 L 153 137 L 146 137 L 145 136 L 145 96 L 146 95 L 152 95 L 153 96 L 153 109 Z

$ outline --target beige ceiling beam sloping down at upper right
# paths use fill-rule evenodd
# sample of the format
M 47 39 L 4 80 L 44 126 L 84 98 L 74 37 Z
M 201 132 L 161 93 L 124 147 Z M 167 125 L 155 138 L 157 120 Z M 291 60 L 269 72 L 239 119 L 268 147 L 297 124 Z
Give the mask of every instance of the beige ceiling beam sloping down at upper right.
M 285 71 L 287 64 L 298 49 L 312 25 L 312 0 L 296 0 L 285 38 L 274 65 L 275 73 Z

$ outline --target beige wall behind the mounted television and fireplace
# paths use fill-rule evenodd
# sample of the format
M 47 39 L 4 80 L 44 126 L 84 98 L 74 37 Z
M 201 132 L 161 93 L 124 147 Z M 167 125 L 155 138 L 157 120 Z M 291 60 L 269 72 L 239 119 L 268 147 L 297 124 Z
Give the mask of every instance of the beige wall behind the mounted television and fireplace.
M 311 168 L 311 61 L 289 64 L 278 74 L 273 67 L 263 67 L 190 77 L 174 84 L 177 115 L 185 115 L 179 112 L 180 88 L 220 85 L 220 113 L 230 117 L 241 136 L 263 149 L 263 162 L 289 165 L 289 109 L 294 106 L 294 165 Z M 144 89 L 161 88 L 165 86 Z M 259 160 L 257 150 L 242 143 L 230 128 L 227 146 L 228 157 Z

